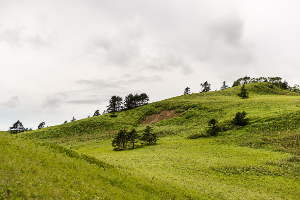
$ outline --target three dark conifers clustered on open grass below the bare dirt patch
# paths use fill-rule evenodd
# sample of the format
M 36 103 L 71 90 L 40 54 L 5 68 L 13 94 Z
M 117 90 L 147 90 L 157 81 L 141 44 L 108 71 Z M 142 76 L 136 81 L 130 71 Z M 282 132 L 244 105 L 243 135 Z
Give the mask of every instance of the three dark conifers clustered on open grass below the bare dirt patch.
M 158 141 L 158 135 L 152 131 L 153 128 L 150 126 L 146 126 L 142 134 L 137 132 L 135 128 L 132 128 L 130 131 L 120 129 L 116 136 L 113 137 L 113 149 L 116 151 L 122 151 L 127 147 L 129 147 L 129 149 L 135 149 L 137 147 L 141 147 L 142 145 L 156 144 Z

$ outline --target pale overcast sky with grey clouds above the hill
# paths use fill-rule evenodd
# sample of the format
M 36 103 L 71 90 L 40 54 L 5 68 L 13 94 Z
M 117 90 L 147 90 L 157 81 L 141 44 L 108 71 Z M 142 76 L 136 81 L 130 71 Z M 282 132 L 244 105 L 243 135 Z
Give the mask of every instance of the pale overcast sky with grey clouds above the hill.
M 0 0 L 0 130 L 280 76 L 300 84 L 299 1 Z

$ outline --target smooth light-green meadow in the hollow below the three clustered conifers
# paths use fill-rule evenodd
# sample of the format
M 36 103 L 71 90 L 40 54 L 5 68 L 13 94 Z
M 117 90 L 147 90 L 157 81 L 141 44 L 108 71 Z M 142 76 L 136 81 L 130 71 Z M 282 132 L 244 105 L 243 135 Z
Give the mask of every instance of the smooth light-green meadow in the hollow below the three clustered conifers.
M 164 137 L 158 145 L 112 151 L 110 141 L 73 146 L 149 179 L 170 181 L 216 199 L 299 199 L 299 157 L 225 146 L 214 138 Z

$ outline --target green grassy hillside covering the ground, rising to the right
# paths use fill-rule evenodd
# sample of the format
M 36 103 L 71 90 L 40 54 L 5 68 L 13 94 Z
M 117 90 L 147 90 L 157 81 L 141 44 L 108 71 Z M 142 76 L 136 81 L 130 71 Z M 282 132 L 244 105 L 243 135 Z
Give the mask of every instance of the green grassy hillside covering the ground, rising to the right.
M 10 199 L 299 199 L 300 95 L 253 83 L 246 84 L 249 98 L 241 99 L 240 88 L 182 95 L 114 118 L 105 114 L 17 137 L 1 133 L 0 194 Z M 111 138 L 120 128 L 141 131 L 148 116 L 163 110 L 179 114 L 152 124 L 160 136 L 157 145 L 112 150 Z M 247 112 L 247 126 L 231 124 L 238 111 Z M 207 137 L 212 117 L 225 131 Z M 53 174 L 60 181 L 53 181 Z

